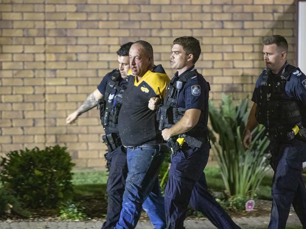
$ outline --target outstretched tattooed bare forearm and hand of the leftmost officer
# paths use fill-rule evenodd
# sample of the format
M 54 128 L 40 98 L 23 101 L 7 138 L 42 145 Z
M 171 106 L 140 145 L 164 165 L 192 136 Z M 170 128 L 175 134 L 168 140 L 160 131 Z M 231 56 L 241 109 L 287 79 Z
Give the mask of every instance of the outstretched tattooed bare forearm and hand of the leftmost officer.
M 95 91 L 87 97 L 87 100 L 85 100 L 84 103 L 76 111 L 68 115 L 66 118 L 66 123 L 73 123 L 82 113 L 89 111 L 93 107 L 96 107 L 98 100 L 103 99 L 103 97 L 103 94 L 101 94 L 98 89 L 95 89 Z

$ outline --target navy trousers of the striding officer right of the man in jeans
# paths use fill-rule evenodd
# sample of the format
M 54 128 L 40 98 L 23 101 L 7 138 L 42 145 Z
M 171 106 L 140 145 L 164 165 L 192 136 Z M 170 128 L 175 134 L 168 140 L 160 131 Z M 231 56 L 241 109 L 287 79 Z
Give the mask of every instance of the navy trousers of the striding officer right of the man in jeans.
M 182 229 L 188 203 L 205 214 L 218 228 L 240 228 L 207 191 L 203 170 L 209 157 L 209 143 L 201 148 L 183 144 L 171 162 L 165 189 L 165 210 L 168 229 Z

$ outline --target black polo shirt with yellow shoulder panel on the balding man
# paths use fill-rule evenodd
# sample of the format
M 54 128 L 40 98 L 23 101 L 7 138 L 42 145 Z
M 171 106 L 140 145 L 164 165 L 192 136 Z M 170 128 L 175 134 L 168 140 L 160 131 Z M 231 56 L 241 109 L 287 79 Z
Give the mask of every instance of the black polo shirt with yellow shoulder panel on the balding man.
M 162 135 L 155 118 L 156 111 L 148 108 L 151 97 L 165 98 L 169 78 L 162 65 L 147 71 L 140 79 L 128 75 L 127 89 L 123 95 L 122 107 L 118 117 L 119 135 L 125 146 L 158 144 Z

